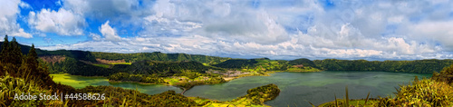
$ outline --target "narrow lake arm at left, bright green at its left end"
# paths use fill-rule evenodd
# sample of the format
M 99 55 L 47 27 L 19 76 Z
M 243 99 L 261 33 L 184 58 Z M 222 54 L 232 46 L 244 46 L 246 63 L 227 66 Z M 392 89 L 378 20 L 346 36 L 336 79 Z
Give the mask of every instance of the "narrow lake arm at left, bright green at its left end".
M 161 92 L 166 92 L 173 90 L 175 92 L 182 92 L 181 89 L 169 85 L 161 84 L 141 84 L 141 83 L 110 83 L 109 79 L 104 77 L 86 77 L 86 76 L 77 76 L 70 74 L 50 74 L 53 76 L 53 81 L 55 83 L 63 83 L 71 85 L 74 88 L 83 88 L 85 86 L 93 85 L 111 85 L 114 87 L 122 87 L 127 89 L 136 90 L 148 94 L 157 94 Z

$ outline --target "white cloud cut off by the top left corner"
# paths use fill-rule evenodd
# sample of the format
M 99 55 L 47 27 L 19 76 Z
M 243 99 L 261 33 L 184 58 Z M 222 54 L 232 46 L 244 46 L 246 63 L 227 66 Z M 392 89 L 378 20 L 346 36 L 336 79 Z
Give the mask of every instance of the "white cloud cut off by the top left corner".
M 20 13 L 20 7 L 24 8 L 27 4 L 20 0 L 7 0 L 0 4 L 0 34 L 13 35 L 24 38 L 32 38 L 32 34 L 24 32 L 24 29 L 17 24 L 17 14 Z

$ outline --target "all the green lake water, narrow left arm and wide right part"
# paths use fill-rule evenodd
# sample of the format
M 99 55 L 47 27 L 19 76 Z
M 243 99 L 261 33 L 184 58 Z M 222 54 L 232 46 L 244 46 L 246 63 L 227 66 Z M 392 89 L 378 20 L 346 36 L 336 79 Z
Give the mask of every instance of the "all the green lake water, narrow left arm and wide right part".
M 128 89 L 139 89 L 140 92 L 156 94 L 168 90 L 182 92 L 178 87 L 159 84 L 140 83 L 109 83 L 103 77 L 84 77 L 69 74 L 51 74 L 53 81 L 83 88 L 88 85 L 112 85 Z M 391 95 L 396 92 L 399 84 L 408 84 L 415 76 L 430 77 L 431 74 L 387 73 L 387 72 L 317 72 L 317 73 L 271 73 L 270 76 L 249 76 L 232 80 L 227 83 L 199 85 L 184 93 L 186 96 L 199 96 L 219 101 L 230 101 L 246 95 L 251 88 L 268 83 L 275 83 L 280 88 L 280 95 L 273 101 L 265 102 L 271 106 L 311 106 L 334 100 L 344 96 L 344 88 L 348 86 L 351 99 L 371 96 Z

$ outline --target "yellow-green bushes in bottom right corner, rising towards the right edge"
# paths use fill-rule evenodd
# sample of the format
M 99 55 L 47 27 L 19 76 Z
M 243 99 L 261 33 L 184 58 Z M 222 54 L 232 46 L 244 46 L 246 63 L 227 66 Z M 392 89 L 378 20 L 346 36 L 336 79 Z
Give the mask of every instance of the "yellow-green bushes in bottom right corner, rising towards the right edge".
M 400 85 L 395 97 L 381 98 L 379 106 L 453 106 L 453 64 L 432 78 L 415 78 L 411 85 Z

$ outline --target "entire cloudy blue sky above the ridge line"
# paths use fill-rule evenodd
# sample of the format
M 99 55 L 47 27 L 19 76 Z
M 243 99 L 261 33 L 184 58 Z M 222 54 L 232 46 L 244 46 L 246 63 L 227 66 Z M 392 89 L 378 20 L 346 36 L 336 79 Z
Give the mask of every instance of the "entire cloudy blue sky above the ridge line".
M 44 50 L 292 60 L 453 58 L 449 0 L 0 0 L 0 37 Z M 0 40 L 0 41 L 3 41 Z

